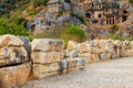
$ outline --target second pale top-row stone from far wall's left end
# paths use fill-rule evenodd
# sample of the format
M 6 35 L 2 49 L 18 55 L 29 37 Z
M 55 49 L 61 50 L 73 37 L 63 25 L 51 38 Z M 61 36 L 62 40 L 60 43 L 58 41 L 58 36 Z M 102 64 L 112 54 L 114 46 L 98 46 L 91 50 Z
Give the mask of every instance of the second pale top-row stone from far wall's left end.
M 80 53 L 88 53 L 91 51 L 91 45 L 88 42 L 81 43 L 79 46 Z

